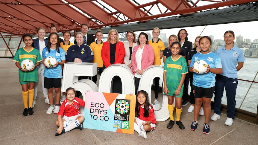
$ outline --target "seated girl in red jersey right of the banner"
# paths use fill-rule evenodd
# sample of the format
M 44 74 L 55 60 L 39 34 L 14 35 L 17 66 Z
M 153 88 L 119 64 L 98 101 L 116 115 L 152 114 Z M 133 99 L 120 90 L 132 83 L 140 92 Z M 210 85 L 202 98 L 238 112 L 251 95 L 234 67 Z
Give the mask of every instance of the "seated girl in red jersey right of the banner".
M 155 129 L 157 123 L 148 98 L 146 91 L 141 90 L 136 94 L 134 130 L 145 139 L 147 139 L 146 131 Z

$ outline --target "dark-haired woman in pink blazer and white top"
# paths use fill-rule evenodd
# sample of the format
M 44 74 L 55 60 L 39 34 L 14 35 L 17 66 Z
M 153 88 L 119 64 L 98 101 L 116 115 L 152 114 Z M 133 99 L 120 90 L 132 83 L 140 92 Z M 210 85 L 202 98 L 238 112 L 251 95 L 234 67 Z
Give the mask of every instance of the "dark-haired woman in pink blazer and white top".
M 135 80 L 135 94 L 137 93 L 142 73 L 154 62 L 154 51 L 152 46 L 148 45 L 148 35 L 141 32 L 137 43 L 138 45 L 133 48 L 131 57 Z

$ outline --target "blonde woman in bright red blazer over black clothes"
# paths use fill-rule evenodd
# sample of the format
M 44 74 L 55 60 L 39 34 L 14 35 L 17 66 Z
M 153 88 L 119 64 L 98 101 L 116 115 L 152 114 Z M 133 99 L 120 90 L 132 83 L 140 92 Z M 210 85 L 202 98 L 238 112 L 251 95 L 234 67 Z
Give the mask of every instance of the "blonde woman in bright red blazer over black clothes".
M 112 29 L 108 33 L 107 41 L 103 43 L 101 49 L 101 57 L 103 60 L 103 68 L 107 68 L 111 64 L 122 63 L 124 64 L 125 47 L 124 43 L 119 41 L 118 32 Z M 122 82 L 120 77 L 113 78 L 113 92 L 122 94 Z

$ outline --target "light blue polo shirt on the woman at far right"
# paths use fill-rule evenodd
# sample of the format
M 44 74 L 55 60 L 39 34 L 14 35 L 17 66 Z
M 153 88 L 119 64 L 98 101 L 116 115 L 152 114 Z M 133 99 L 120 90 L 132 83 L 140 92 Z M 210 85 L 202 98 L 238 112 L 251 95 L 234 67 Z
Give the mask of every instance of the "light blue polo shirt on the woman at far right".
M 245 57 L 243 51 L 234 45 L 229 51 L 225 49 L 225 45 L 218 48 L 215 52 L 221 58 L 223 73 L 221 75 L 235 79 L 237 78 L 236 65 L 238 62 L 244 62 Z

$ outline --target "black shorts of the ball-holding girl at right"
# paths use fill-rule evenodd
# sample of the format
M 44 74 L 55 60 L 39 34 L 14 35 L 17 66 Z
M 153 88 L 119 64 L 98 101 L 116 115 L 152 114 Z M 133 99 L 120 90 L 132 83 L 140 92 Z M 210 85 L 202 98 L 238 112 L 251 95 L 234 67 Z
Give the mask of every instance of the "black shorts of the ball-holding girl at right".
M 194 97 L 195 98 L 212 98 L 215 86 L 211 88 L 202 88 L 202 87 L 197 87 L 195 85 L 192 86 Z

